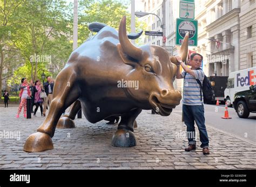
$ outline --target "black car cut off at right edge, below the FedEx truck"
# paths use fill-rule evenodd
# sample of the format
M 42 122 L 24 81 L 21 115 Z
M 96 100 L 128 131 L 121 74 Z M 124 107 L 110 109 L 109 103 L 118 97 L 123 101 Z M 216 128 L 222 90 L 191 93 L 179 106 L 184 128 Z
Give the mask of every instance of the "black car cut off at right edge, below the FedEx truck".
M 235 93 L 233 106 L 240 118 L 248 118 L 250 112 L 256 113 L 256 84 L 250 90 Z

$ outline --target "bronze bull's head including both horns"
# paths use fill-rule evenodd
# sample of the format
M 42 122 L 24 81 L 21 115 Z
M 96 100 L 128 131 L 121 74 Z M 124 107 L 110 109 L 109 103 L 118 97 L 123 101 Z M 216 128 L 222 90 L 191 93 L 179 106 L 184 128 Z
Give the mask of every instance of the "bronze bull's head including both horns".
M 139 89 L 127 88 L 130 96 L 137 100 L 142 109 L 153 109 L 161 116 L 169 116 L 172 109 L 179 105 L 181 94 L 174 90 L 177 60 L 162 47 L 156 45 L 134 46 L 127 38 L 126 18 L 119 25 L 117 45 L 124 63 L 131 66 L 126 80 L 139 82 Z M 185 61 L 188 48 L 188 35 L 181 45 L 181 57 Z M 172 63 L 173 62 L 173 63 Z

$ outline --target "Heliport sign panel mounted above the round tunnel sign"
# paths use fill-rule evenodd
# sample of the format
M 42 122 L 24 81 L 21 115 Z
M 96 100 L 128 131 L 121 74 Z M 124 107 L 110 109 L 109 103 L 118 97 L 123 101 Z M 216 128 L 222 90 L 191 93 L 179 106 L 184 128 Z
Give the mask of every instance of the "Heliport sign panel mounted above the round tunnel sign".
M 194 19 L 194 3 L 180 1 L 179 17 L 185 19 Z

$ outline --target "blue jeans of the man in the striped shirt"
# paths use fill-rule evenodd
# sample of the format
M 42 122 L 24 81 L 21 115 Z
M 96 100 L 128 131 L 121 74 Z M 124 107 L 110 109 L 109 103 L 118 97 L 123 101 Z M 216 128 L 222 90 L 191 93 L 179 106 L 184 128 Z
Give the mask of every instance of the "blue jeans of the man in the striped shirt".
M 184 105 L 182 107 L 184 122 L 187 126 L 188 144 L 196 145 L 194 121 L 198 126 L 202 148 L 209 146 L 209 139 L 205 127 L 204 105 Z

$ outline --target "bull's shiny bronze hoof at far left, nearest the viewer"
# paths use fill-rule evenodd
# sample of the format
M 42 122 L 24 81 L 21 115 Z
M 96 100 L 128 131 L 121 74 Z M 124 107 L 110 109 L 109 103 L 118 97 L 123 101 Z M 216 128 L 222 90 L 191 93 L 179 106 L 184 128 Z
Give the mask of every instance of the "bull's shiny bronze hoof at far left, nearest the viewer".
M 31 134 L 24 144 L 25 152 L 43 152 L 44 150 L 53 149 L 51 137 L 42 132 Z

